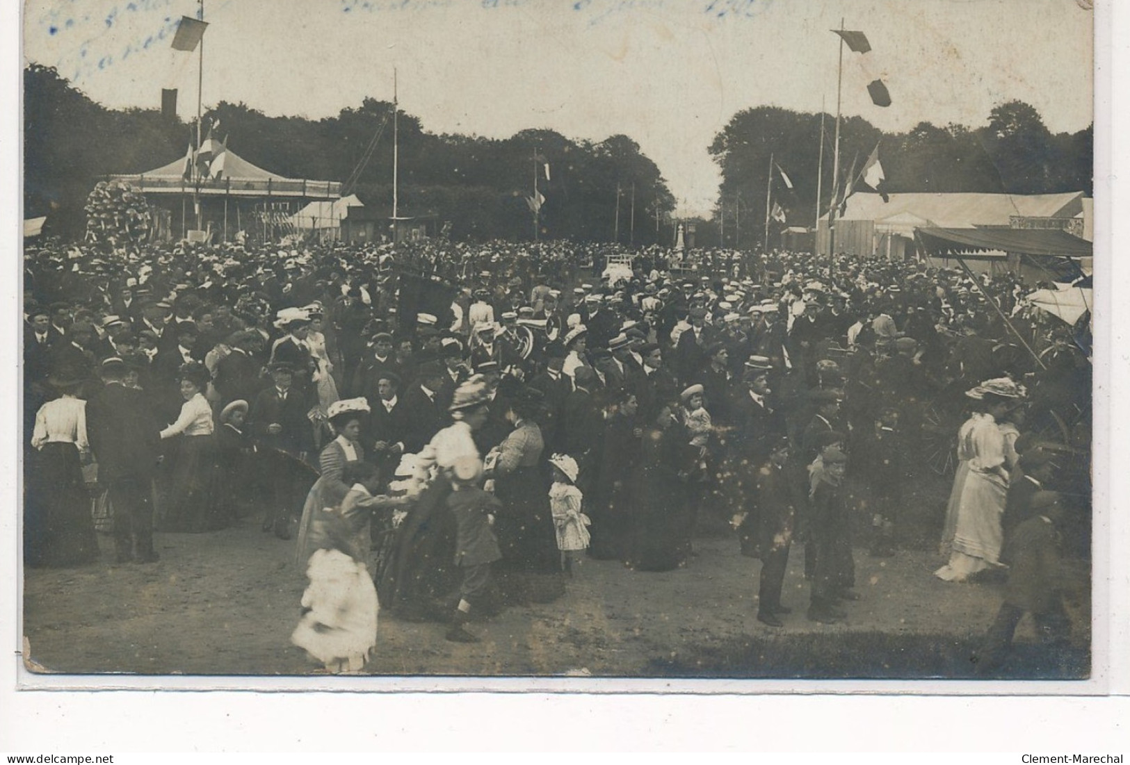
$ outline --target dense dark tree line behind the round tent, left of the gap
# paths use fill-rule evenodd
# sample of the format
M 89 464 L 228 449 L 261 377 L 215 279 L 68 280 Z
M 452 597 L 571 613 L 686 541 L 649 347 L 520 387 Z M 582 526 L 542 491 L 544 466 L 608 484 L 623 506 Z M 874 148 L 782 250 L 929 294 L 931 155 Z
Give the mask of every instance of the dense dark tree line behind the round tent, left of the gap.
M 107 109 L 38 64 L 25 69 L 24 94 L 25 216 L 52 213 L 49 226 L 64 236 L 82 230 L 86 195 L 102 176 L 142 173 L 183 157 L 194 131 L 194 123 L 172 122 L 154 109 Z M 391 104 L 373 98 L 323 120 L 272 117 L 221 102 L 206 114 L 205 125 L 218 123 L 215 138 L 247 161 L 284 177 L 316 181 L 349 181 L 380 134 L 348 190 L 388 213 L 391 113 Z M 501 140 L 436 134 L 405 113 L 398 132 L 400 214 L 435 213 L 451 221 L 455 238 L 532 238 L 528 197 L 536 172 L 545 197 L 544 238 L 612 239 L 617 188 L 625 243 L 633 186 L 636 243 L 654 241 L 657 210 L 667 218 L 675 206 L 659 168 L 626 135 L 591 142 L 550 130 Z M 667 228 L 661 227 L 662 236 Z

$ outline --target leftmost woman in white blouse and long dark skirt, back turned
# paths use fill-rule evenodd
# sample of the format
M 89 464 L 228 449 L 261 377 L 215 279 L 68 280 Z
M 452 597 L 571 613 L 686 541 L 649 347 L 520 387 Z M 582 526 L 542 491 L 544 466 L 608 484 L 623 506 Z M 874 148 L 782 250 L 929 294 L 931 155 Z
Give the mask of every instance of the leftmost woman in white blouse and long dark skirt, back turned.
M 90 495 L 82 482 L 81 459 L 89 455 L 86 402 L 76 395 L 82 380 L 53 376 L 49 384 L 60 397 L 35 414 L 24 494 L 24 563 L 82 565 L 98 559 Z

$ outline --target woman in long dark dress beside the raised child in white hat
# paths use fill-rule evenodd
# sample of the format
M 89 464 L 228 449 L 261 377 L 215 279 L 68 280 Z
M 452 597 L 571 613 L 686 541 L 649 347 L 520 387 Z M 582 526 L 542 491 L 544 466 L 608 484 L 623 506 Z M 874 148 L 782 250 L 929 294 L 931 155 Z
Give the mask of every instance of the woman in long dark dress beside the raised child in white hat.
M 694 468 L 685 429 L 678 421 L 679 396 L 657 402 L 654 420 L 643 433 L 635 481 L 635 508 L 627 565 L 636 571 L 670 571 L 686 563 L 689 552 L 689 495 Z

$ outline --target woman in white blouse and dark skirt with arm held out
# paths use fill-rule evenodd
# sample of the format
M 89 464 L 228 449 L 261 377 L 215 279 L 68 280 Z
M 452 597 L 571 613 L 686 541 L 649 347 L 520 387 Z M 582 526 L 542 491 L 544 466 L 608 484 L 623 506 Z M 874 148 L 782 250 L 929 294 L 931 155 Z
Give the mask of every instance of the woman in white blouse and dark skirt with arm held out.
M 179 438 L 169 466 L 168 509 L 163 531 L 211 531 L 225 521 L 212 501 L 216 475 L 216 441 L 211 405 L 205 398 L 208 370 L 202 364 L 181 367 L 184 404 L 176 422 L 160 431 L 162 440 Z

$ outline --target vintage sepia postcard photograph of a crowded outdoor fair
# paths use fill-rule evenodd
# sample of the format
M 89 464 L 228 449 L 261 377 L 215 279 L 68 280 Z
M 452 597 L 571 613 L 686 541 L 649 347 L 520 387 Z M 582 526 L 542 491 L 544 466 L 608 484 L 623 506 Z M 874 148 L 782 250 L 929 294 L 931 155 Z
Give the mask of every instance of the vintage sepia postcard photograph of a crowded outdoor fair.
M 1094 693 L 1097 12 L 27 0 L 19 682 Z

